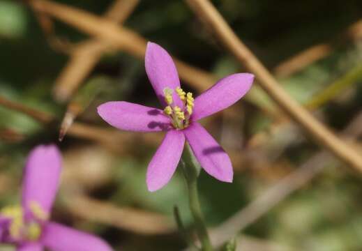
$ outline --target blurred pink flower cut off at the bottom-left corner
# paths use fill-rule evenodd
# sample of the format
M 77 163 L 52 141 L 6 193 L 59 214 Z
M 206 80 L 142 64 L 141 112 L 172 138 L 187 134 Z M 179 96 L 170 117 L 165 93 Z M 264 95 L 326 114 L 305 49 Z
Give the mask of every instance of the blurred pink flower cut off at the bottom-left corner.
M 96 236 L 49 220 L 58 190 L 61 154 L 56 146 L 37 146 L 29 154 L 24 172 L 22 205 L 0 212 L 0 241 L 17 251 L 110 251 Z

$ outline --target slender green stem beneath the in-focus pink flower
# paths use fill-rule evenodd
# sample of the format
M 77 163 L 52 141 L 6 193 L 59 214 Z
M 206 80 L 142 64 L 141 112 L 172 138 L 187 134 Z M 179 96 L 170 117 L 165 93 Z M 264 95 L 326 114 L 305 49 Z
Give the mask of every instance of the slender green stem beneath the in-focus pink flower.
M 197 193 L 197 176 L 199 173 L 199 165 L 197 164 L 190 146 L 186 144 L 183 151 L 181 163 L 183 165 L 183 174 L 188 185 L 188 199 L 190 211 L 193 214 L 195 228 L 203 251 L 213 251 L 213 246 L 207 233 L 204 216 L 202 215 L 201 206 L 199 203 L 199 195 Z

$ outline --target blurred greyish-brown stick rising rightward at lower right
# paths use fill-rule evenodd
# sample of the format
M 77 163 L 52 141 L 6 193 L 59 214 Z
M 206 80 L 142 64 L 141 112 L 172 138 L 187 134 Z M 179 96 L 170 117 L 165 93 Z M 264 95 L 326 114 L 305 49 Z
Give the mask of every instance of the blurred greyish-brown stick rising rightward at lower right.
M 346 139 L 356 139 L 362 135 L 362 112 L 349 123 L 349 126 L 342 131 L 341 136 Z M 303 163 L 298 169 L 276 185 L 263 192 L 262 195 L 252 201 L 246 208 L 236 213 L 231 218 L 219 225 L 217 229 L 211 231 L 211 239 L 214 245 L 221 245 L 232 238 L 236 233 L 246 229 L 250 224 L 258 220 L 262 215 L 271 210 L 276 204 L 301 188 L 313 177 L 324 170 L 324 167 L 333 165 L 333 158 L 327 151 L 319 151 L 309 160 Z

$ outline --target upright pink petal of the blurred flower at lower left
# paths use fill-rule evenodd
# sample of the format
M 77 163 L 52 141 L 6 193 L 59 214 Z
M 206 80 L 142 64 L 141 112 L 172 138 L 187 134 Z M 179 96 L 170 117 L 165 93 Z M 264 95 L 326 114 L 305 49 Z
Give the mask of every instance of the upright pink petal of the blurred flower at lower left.
M 58 190 L 61 174 L 61 153 L 55 145 L 36 146 L 29 154 L 22 183 L 22 206 L 31 213 L 30 204 L 36 202 L 49 213 Z

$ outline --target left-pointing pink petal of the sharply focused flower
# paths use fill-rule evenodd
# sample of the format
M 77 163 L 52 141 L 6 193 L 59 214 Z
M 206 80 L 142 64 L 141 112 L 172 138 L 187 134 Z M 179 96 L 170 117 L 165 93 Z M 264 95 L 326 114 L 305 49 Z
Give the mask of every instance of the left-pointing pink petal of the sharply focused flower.
M 98 114 L 121 130 L 157 132 L 169 126 L 169 118 L 160 109 L 130 102 L 112 101 L 98 106 Z

